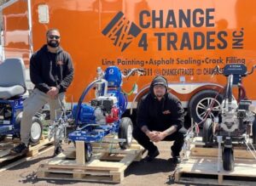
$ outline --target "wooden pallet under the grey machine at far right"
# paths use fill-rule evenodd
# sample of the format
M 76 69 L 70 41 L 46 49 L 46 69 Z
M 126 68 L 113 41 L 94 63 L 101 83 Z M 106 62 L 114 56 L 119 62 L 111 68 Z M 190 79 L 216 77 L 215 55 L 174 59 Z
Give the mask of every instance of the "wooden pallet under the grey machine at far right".
M 234 149 L 234 155 L 234 171 L 224 171 L 221 161 L 218 172 L 218 149 L 192 144 L 189 159 L 177 166 L 175 181 L 211 185 L 255 185 L 253 182 L 256 181 L 256 160 L 251 152 L 238 148 Z

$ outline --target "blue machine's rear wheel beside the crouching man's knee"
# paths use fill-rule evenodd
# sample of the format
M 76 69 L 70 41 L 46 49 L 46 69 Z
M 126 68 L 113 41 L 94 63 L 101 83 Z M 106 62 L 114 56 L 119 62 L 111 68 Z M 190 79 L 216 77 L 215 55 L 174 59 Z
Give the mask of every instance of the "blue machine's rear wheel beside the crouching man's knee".
M 132 141 L 132 122 L 129 117 L 123 117 L 119 125 L 119 138 L 124 138 L 125 142 L 119 142 L 121 149 L 128 149 Z

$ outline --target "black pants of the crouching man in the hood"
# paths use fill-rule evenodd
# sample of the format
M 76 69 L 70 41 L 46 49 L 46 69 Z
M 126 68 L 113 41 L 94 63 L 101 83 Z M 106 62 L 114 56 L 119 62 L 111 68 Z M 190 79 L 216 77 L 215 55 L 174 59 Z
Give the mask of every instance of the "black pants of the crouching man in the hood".
M 178 156 L 180 151 L 182 150 L 184 144 L 184 134 L 186 133 L 185 128 L 181 128 L 179 131 L 172 133 L 169 136 L 166 136 L 163 141 L 174 141 L 172 145 L 172 153 L 174 156 Z M 141 144 L 143 148 L 148 149 L 148 152 L 154 152 L 157 147 L 153 142 L 150 141 L 148 136 L 142 132 L 141 128 L 135 127 L 132 132 L 133 138 L 137 140 L 138 144 Z

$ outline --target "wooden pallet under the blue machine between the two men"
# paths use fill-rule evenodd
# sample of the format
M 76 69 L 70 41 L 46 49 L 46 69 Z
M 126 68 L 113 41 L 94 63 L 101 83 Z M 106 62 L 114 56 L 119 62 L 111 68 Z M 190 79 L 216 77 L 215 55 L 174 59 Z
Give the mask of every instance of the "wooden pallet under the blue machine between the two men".
M 137 144 L 125 150 L 93 147 L 92 160 L 85 162 L 84 142 L 76 142 L 76 149 L 68 149 L 65 154 L 41 164 L 37 175 L 44 179 L 120 183 L 125 169 L 132 161 L 140 161 L 142 155 L 143 149 Z

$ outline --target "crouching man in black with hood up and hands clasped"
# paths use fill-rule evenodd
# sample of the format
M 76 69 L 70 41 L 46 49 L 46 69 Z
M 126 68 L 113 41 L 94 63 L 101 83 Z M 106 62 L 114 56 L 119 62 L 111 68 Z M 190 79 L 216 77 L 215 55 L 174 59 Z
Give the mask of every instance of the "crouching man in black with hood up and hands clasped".
M 151 82 L 149 93 L 141 99 L 137 112 L 137 127 L 132 135 L 148 155 L 143 161 L 153 161 L 160 154 L 154 143 L 174 141 L 172 161 L 180 162 L 179 153 L 183 147 L 183 108 L 179 99 L 167 93 L 168 83 L 163 76 L 156 76 Z

